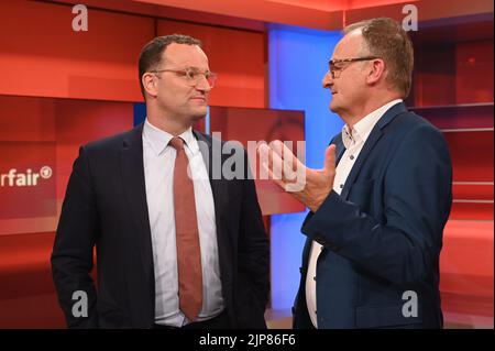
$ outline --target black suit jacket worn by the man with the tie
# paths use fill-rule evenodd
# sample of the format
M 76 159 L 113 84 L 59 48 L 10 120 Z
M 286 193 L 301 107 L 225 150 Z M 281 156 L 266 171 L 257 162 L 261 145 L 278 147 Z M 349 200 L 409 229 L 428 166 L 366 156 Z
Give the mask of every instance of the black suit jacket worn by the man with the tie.
M 74 163 L 52 254 L 53 278 L 69 327 L 150 328 L 154 323 L 142 129 L 143 124 L 81 146 Z M 195 136 L 207 165 L 212 165 L 211 138 L 198 132 Z M 222 155 L 222 161 L 229 156 Z M 211 171 L 222 294 L 230 323 L 266 328 L 270 248 L 254 182 L 213 179 Z M 89 275 L 95 245 L 98 292 Z M 87 318 L 72 314 L 76 290 L 88 294 Z

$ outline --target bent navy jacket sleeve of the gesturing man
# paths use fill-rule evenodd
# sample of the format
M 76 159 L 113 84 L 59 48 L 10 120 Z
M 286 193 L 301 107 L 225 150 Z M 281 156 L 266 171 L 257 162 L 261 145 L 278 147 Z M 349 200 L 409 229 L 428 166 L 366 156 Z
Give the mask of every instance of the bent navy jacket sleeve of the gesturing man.
M 332 190 L 307 218 L 302 232 L 393 283 L 421 282 L 438 262 L 452 202 L 451 180 L 443 135 L 431 125 L 418 127 L 406 134 L 384 177 L 375 179 L 384 182 L 380 206 L 385 220 Z

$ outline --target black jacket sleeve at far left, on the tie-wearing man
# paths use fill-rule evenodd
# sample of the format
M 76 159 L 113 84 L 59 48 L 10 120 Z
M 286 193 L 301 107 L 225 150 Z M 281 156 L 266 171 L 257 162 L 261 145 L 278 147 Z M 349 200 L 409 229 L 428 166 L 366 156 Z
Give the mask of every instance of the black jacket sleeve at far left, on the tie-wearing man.
M 52 274 L 69 328 L 97 328 L 97 293 L 90 276 L 98 212 L 85 147 L 74 163 L 52 252 Z M 87 316 L 84 304 L 87 296 Z M 74 311 L 76 311 L 76 317 Z M 81 316 L 82 315 L 82 316 Z

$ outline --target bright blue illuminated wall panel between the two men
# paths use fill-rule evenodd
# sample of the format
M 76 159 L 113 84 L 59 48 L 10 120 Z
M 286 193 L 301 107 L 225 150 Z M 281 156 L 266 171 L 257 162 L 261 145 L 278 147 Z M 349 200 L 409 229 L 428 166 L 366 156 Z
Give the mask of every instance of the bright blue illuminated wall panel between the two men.
M 339 32 L 273 26 L 268 33 L 270 107 L 305 111 L 306 161 L 323 165 L 330 139 L 342 121 L 329 111 L 331 95 L 321 88 L 328 59 Z M 272 216 L 272 307 L 293 306 L 299 285 L 299 266 L 306 237 L 300 226 L 306 213 Z

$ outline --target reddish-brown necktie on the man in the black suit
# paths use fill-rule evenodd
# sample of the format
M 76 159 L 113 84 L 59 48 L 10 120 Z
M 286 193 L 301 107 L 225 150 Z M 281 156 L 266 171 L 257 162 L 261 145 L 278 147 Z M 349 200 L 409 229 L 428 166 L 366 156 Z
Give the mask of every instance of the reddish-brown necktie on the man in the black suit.
M 177 151 L 174 167 L 174 211 L 179 307 L 187 319 L 194 321 L 202 306 L 201 252 L 195 188 L 193 179 L 187 175 L 189 161 L 184 151 L 184 140 L 175 136 L 169 144 Z

